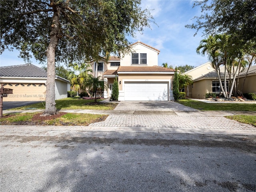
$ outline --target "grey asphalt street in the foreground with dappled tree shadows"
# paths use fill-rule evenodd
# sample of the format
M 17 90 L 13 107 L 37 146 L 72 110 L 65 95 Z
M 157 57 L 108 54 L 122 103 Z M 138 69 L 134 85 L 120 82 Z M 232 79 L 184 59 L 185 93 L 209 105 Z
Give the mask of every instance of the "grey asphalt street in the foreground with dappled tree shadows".
M 252 192 L 256 137 L 0 130 L 1 192 Z

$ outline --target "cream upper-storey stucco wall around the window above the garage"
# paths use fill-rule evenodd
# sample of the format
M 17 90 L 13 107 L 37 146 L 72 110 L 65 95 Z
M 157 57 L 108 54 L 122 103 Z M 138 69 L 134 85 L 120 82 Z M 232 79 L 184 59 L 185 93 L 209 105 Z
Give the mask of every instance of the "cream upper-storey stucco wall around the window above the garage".
M 157 66 L 158 65 L 158 52 L 156 50 L 150 49 L 147 46 L 142 44 L 136 44 L 132 47 L 133 52 L 135 53 L 146 53 L 147 54 L 147 64 L 143 64 L 143 66 Z M 130 54 L 126 54 L 124 57 L 120 58 L 121 66 L 141 66 L 132 64 L 132 56 Z

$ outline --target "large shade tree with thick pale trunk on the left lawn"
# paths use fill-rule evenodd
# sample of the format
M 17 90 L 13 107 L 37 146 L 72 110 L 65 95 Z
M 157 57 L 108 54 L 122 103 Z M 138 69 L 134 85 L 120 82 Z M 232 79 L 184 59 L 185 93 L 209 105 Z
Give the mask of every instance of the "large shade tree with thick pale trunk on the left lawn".
M 129 49 L 126 36 L 149 27 L 152 16 L 140 0 L 1 0 L 1 46 L 47 60 L 46 109 L 56 114 L 55 62 L 97 59 Z

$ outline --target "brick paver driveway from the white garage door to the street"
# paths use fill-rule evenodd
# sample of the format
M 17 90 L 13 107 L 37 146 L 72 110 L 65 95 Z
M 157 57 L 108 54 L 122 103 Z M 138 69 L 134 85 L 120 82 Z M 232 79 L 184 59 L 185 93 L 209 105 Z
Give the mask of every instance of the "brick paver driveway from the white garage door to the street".
M 256 127 L 252 125 L 230 120 L 224 116 L 204 115 L 198 110 L 172 101 L 121 101 L 114 110 L 134 112 L 133 114 L 109 115 L 104 122 L 93 123 L 89 126 L 161 128 L 162 131 L 182 128 L 222 132 L 226 130 L 234 134 L 247 131 L 256 133 Z M 169 112 L 169 114 L 164 112 Z

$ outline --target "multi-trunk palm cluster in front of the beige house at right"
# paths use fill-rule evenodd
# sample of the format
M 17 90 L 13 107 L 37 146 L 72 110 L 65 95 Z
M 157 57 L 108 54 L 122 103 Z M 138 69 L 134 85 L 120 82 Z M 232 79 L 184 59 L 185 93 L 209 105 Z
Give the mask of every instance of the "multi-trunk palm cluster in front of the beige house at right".
M 249 58 L 249 63 L 255 60 L 253 50 L 254 44 L 251 42 L 242 47 L 235 45 L 237 39 L 227 34 L 217 34 L 209 36 L 207 39 L 203 39 L 200 42 L 196 52 L 198 54 L 208 55 L 208 60 L 212 63 L 212 67 L 215 68 L 218 74 L 218 80 L 220 82 L 220 90 L 225 98 L 231 98 L 234 85 L 236 82 L 236 76 L 240 72 L 241 67 L 247 63 L 245 62 L 246 56 Z M 253 45 L 253 46 L 252 46 Z M 255 51 L 255 50 L 254 50 Z M 251 55 L 248 57 L 248 55 Z M 229 78 L 229 93 L 226 86 L 222 86 L 222 74 L 220 72 L 220 66 L 224 66 L 224 85 L 226 85 L 227 77 Z M 236 88 L 235 93 L 236 94 Z

